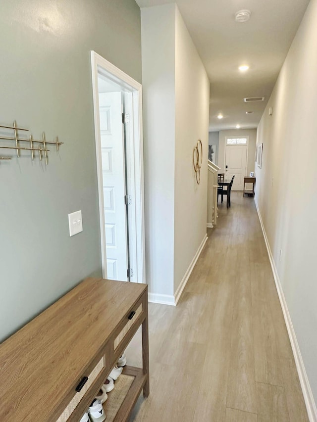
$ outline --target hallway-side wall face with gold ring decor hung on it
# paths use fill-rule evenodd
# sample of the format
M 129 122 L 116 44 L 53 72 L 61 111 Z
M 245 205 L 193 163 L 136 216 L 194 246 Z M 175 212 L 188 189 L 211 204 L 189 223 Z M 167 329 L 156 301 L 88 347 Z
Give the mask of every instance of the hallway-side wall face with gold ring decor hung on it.
M 174 292 L 206 236 L 210 83 L 176 6 Z M 200 185 L 193 148 L 203 143 Z

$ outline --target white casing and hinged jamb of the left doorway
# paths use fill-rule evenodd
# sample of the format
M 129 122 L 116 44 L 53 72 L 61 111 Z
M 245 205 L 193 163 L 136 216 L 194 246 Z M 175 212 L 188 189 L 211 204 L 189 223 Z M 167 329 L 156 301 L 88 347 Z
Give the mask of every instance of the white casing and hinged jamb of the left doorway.
M 101 232 L 101 257 L 103 278 L 108 278 L 105 200 L 103 186 L 103 157 L 101 149 L 101 125 L 99 107 L 98 78 L 106 77 L 121 87 L 124 93 L 126 112 L 130 113 L 130 124 L 125 125 L 128 133 L 127 145 L 127 189 L 131 195 L 128 205 L 130 266 L 133 277 L 130 281 L 145 283 L 145 224 L 144 224 L 144 170 L 143 170 L 143 133 L 142 133 L 142 86 L 129 75 L 118 69 L 104 57 L 91 51 L 92 86 L 94 100 L 95 142 L 97 159 L 97 178 L 99 194 L 99 216 Z M 127 106 L 128 104 L 128 106 Z M 103 110 L 106 112 L 106 110 Z M 105 127 L 103 130 L 107 130 Z M 104 158 L 105 161 L 105 158 Z M 109 203 L 108 203 L 109 205 Z M 108 239 L 107 239 L 108 240 Z M 132 249 L 132 253 L 131 253 Z M 109 276 L 111 269 L 109 268 Z M 126 278 L 125 278 L 126 280 Z

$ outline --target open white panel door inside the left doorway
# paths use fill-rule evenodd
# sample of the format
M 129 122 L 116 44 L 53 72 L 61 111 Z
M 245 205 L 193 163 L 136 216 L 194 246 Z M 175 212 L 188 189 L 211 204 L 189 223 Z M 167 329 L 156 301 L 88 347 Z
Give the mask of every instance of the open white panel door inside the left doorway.
M 107 278 L 127 281 L 127 221 L 121 93 L 99 94 Z

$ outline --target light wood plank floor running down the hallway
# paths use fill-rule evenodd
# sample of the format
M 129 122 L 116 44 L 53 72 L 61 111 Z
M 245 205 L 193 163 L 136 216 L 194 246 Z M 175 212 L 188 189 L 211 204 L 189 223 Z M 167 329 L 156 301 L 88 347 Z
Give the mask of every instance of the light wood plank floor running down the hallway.
M 308 421 L 254 201 L 234 192 L 218 214 L 177 307 L 149 304 L 150 397 L 131 421 Z

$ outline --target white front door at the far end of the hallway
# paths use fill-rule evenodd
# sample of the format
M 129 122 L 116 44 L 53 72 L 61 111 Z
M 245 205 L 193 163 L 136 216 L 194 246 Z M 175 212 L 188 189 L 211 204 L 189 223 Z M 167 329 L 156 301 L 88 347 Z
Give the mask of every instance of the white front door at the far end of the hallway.
M 243 190 L 244 177 L 247 172 L 247 145 L 227 145 L 225 178 L 233 175 L 232 190 Z

